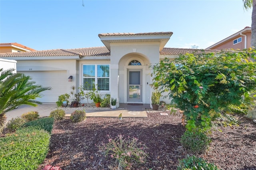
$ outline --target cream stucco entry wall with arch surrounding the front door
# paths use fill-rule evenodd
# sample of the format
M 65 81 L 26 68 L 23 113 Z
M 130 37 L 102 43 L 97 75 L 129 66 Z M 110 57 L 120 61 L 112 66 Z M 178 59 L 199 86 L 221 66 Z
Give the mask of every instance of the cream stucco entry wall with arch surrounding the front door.
M 128 69 L 142 70 L 142 102 L 150 103 L 152 89 L 150 88 L 151 70 L 148 67 L 150 63 L 159 62 L 159 42 L 150 43 L 111 43 L 110 60 L 110 91 L 111 97 L 117 98 L 119 103 L 131 103 L 128 101 Z M 136 59 L 142 62 L 140 66 L 128 65 L 129 62 Z M 118 90 L 116 90 L 118 87 Z

